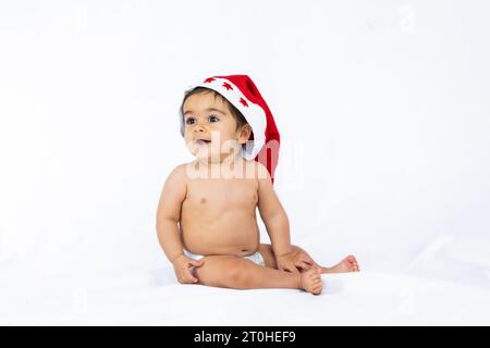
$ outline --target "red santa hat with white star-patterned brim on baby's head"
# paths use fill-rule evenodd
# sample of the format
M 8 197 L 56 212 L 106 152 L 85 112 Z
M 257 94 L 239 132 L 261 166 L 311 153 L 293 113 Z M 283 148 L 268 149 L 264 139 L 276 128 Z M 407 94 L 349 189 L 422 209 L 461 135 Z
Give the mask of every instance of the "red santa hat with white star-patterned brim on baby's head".
M 247 75 L 211 76 L 189 86 L 187 91 L 196 87 L 219 92 L 243 114 L 252 127 L 253 135 L 242 154 L 249 161 L 262 163 L 273 184 L 279 160 L 279 132 L 269 107 L 252 78 Z

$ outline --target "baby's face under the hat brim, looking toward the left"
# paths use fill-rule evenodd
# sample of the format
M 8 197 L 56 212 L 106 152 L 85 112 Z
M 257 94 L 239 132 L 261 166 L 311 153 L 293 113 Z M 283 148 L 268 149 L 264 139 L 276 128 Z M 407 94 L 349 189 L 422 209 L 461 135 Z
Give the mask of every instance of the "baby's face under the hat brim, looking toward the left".
M 212 92 L 187 98 L 183 107 L 184 138 L 189 151 L 199 159 L 222 161 L 236 153 L 246 139 L 228 105 Z

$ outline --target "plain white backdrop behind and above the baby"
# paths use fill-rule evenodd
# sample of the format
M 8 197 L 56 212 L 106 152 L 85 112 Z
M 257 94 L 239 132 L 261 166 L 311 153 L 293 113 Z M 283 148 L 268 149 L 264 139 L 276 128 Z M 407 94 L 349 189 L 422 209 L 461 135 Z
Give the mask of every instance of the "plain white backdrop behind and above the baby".
M 155 213 L 167 175 L 192 160 L 183 91 L 247 74 L 281 133 L 275 189 L 294 244 L 326 264 L 355 253 L 363 270 L 489 288 L 487 271 L 431 268 L 445 250 L 490 269 L 489 11 L 0 2 L 0 278 L 35 289 L 168 268 Z

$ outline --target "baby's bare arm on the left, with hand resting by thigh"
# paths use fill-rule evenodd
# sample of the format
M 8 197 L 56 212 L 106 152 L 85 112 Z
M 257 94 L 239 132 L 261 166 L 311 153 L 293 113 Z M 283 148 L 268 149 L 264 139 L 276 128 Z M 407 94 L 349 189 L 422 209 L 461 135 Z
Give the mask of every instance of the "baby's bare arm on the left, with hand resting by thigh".
M 200 266 L 203 262 L 184 256 L 184 248 L 179 235 L 179 220 L 182 202 L 186 195 L 185 164 L 175 167 L 167 178 L 161 191 L 157 210 L 157 233 L 163 252 L 172 262 L 175 275 L 181 283 L 197 283 L 189 266 Z

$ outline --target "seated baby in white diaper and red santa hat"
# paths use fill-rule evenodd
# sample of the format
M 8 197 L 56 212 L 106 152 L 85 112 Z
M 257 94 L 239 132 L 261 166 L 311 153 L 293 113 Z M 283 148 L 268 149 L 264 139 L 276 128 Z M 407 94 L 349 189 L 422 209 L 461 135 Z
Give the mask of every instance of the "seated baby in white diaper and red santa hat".
M 277 158 L 268 156 L 279 150 L 279 133 L 248 76 L 213 76 L 192 86 L 181 122 L 195 160 L 171 172 L 157 211 L 160 246 L 180 283 L 318 295 L 321 273 L 359 271 L 354 256 L 324 268 L 291 245 L 272 186 Z M 260 244 L 257 208 L 270 245 Z

